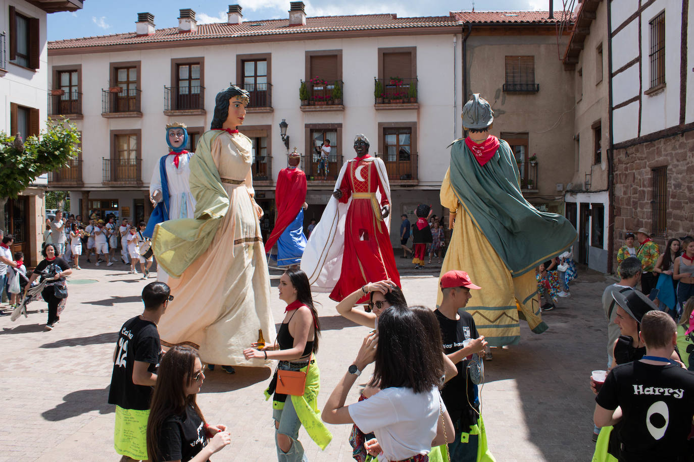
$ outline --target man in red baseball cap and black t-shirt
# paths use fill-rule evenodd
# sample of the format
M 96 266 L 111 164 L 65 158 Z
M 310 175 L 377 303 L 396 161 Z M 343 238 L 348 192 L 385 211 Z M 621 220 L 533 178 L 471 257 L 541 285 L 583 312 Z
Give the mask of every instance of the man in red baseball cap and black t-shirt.
M 473 353 L 484 353 L 486 341 L 477 334 L 472 315 L 464 310 L 472 297 L 470 290 L 479 288 L 470 281 L 466 272 L 447 272 L 441 276 L 443 300 L 439 309 L 434 311 L 441 326 L 443 353 L 458 369 L 457 375 L 446 382 L 441 390 L 441 397 L 455 426 L 455 440 L 449 445 L 451 462 L 477 460 L 479 436 L 470 435 L 467 443 L 460 440 L 462 434 L 470 432 L 471 426 L 477 425 L 480 415 L 477 385 L 470 379 L 468 363 Z

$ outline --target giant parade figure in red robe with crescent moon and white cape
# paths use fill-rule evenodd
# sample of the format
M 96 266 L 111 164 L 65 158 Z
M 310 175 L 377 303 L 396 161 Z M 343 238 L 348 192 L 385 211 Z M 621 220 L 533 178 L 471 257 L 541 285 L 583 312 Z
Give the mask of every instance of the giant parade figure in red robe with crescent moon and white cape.
M 335 301 L 372 281 L 390 279 L 400 287 L 389 233 L 388 173 L 381 159 L 369 155 L 369 145 L 366 136 L 357 134 L 357 157 L 342 166 L 301 259 L 311 287 L 330 292 Z

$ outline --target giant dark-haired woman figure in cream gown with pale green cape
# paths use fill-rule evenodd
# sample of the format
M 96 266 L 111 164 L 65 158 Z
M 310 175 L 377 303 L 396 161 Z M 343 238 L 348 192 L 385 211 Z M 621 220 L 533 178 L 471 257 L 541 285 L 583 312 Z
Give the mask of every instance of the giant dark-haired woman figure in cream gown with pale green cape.
M 243 350 L 262 329 L 275 337 L 270 279 L 251 177 L 251 140 L 239 133 L 248 91 L 232 86 L 217 94 L 212 130 L 190 161 L 192 218 L 169 220 L 154 229 L 158 264 L 173 276 L 158 329 L 162 344 L 187 344 L 210 364 L 261 366 Z

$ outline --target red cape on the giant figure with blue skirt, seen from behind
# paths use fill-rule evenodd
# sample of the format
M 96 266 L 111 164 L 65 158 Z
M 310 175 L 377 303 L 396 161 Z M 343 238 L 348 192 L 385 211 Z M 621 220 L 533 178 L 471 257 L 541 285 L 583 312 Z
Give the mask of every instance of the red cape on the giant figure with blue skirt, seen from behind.
M 306 202 L 306 174 L 300 168 L 282 168 L 277 177 L 275 203 L 277 216 L 275 227 L 265 242 L 265 253 L 269 254 L 272 246 L 294 221 L 304 202 Z

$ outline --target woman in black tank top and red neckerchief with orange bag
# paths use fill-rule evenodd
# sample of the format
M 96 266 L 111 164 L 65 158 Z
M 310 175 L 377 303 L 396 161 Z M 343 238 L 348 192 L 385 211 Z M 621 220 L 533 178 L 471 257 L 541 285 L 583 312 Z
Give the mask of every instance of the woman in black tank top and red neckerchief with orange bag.
M 278 371 L 265 391 L 266 398 L 274 394 L 272 417 L 275 420 L 275 443 L 279 461 L 305 460 L 304 448 L 298 441 L 298 432 L 304 426 L 309 436 L 321 450 L 330 443 L 332 435 L 321 422 L 318 414 L 320 372 L 316 364 L 321 325 L 314 307 L 311 286 L 301 269 L 287 269 L 280 277 L 280 300 L 287 303 L 274 344 L 263 348 L 246 348 L 246 359 L 279 359 L 278 370 L 303 371 L 306 382 L 301 396 L 287 396 L 276 392 Z M 251 347 L 258 347 L 256 342 Z

